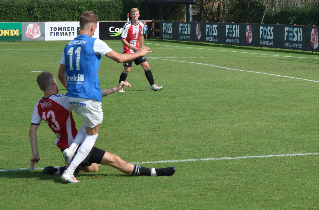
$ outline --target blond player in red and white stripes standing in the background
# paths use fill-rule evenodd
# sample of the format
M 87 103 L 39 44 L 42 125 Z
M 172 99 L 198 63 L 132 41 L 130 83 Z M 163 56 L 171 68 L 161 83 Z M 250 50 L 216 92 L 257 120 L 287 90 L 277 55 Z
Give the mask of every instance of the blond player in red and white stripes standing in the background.
M 143 35 L 144 25 L 142 22 L 138 21 L 139 16 L 140 16 L 139 10 L 137 8 L 131 9 L 132 20 L 127 22 L 124 25 L 122 35 L 121 35 L 121 41 L 123 43 L 122 45 L 123 54 L 134 54 L 138 52 L 138 50 L 140 49 L 140 46 L 141 47 L 144 46 L 144 37 L 140 36 L 140 35 Z M 124 71 L 122 72 L 120 76 L 119 83 L 121 81 L 126 80 L 127 75 L 130 73 L 133 61 L 136 65 L 140 64 L 142 68 L 144 69 L 145 76 L 151 85 L 152 91 L 159 91 L 163 88 L 163 87 L 159 87 L 155 85 L 154 78 L 150 70 L 150 66 L 148 65 L 148 62 L 145 56 L 138 57 L 129 62 L 123 62 Z M 119 92 L 124 92 L 124 91 L 123 89 L 121 89 L 119 90 Z

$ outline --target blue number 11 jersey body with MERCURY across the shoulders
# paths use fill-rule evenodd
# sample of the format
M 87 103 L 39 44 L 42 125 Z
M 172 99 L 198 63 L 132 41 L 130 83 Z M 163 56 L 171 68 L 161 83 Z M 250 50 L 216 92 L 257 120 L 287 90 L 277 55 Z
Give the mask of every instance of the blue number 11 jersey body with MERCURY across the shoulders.
M 102 100 L 98 76 L 101 55 L 94 52 L 95 40 L 79 35 L 64 48 L 69 97 Z

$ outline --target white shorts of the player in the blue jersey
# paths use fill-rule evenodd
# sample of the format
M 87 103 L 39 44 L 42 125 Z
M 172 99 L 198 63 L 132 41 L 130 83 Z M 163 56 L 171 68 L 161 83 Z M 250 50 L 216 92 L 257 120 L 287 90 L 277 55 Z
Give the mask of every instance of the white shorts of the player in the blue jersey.
M 102 103 L 88 98 L 69 97 L 70 106 L 83 119 L 85 127 L 95 127 L 103 121 Z

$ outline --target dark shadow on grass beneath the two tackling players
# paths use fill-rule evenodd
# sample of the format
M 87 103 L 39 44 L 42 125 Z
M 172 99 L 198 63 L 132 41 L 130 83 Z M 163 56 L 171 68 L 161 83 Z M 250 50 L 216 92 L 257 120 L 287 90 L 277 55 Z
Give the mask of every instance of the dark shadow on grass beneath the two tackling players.
M 98 173 L 98 172 L 87 172 L 87 173 L 79 173 L 75 174 L 75 177 L 79 177 L 79 179 L 97 179 L 99 177 L 134 177 L 131 174 L 106 174 L 106 173 Z M 81 178 L 83 177 L 83 178 Z M 61 174 L 59 175 L 48 175 L 43 174 L 42 170 L 24 170 L 24 171 L 7 171 L 0 172 L 0 178 L 8 178 L 8 179 L 38 179 L 38 180 L 53 180 L 57 184 L 63 184 L 61 180 Z M 65 183 L 66 184 L 66 183 Z

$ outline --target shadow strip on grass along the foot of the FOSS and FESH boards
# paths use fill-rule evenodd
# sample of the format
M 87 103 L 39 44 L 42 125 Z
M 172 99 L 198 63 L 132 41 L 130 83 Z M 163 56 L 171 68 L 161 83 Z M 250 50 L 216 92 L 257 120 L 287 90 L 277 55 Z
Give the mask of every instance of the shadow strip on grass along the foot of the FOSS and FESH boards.
M 315 53 L 312 53 L 310 51 L 301 51 L 301 50 L 297 50 L 296 52 L 294 52 L 293 50 L 289 50 L 289 49 L 278 49 L 276 50 L 276 48 L 269 48 L 269 47 L 265 47 L 264 49 L 261 49 L 260 47 L 246 47 L 246 46 L 237 46 L 237 45 L 234 45 L 234 46 L 231 46 L 231 45 L 218 45 L 218 44 L 212 44 L 212 43 L 209 43 L 209 44 L 205 44 L 205 43 L 200 43 L 200 42 L 197 42 L 197 43 L 194 43 L 194 42 L 182 42 L 182 41 L 169 41 L 169 40 L 152 40 L 152 42 L 158 42 L 158 43 L 165 43 L 165 44 L 170 44 L 172 45 L 173 43 L 176 43 L 176 44 L 184 44 L 184 45 L 189 45 L 189 46 L 192 46 L 192 47 L 217 47 L 217 48 L 220 48 L 220 49 L 245 49 L 247 51 L 254 51 L 254 52 L 251 52 L 251 53 L 265 53 L 265 52 L 280 52 L 280 53 L 288 53 L 288 54 L 291 54 L 293 56 L 293 54 L 303 54 L 303 55 L 314 55 L 314 56 L 318 56 L 318 53 L 315 52 Z M 146 44 L 146 43 L 145 43 Z M 146 44 L 147 45 L 147 44 Z M 152 50 L 152 47 L 151 47 L 151 50 Z

